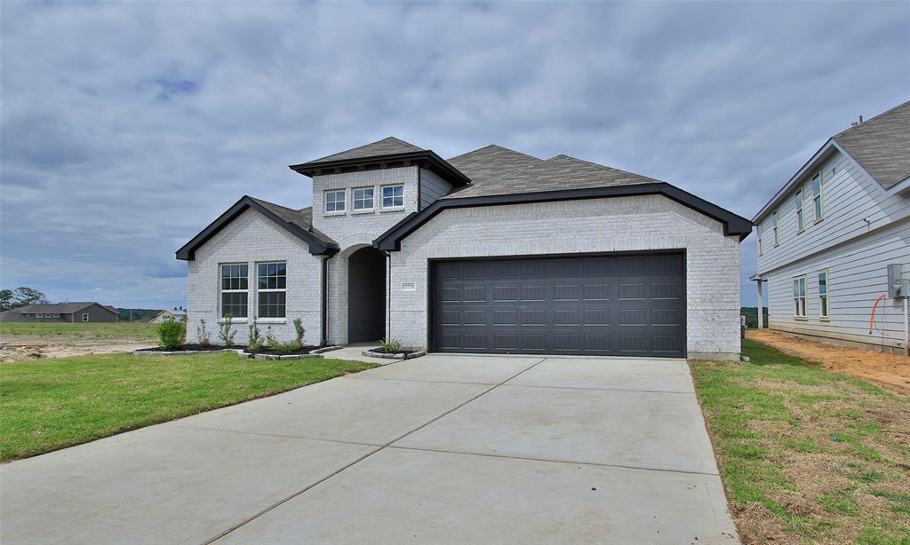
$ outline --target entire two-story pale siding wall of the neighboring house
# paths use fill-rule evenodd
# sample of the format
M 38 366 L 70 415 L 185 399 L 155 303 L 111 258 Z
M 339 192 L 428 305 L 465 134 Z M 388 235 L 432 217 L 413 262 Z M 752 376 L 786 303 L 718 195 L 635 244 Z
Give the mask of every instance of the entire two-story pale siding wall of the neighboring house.
M 763 252 L 758 273 L 765 287 L 769 327 L 848 342 L 895 348 L 903 341 L 900 302 L 879 304 L 876 323 L 881 331 L 869 335 L 869 316 L 875 299 L 886 291 L 885 265 L 910 265 L 910 199 L 888 192 L 852 157 L 835 153 L 821 166 L 824 218 L 814 220 L 812 175 L 784 197 L 778 210 L 779 244 L 773 243 L 772 211 L 759 218 Z M 797 233 L 796 190 L 804 195 L 805 229 Z M 868 220 L 868 221 L 866 221 Z M 830 320 L 819 318 L 818 275 L 830 272 Z M 794 317 L 793 280 L 807 275 L 807 317 Z

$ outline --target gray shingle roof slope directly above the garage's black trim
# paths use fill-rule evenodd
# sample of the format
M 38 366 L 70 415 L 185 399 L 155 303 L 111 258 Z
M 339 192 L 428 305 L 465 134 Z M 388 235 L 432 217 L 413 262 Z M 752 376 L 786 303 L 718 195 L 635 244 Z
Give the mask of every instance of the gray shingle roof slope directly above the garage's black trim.
M 504 170 L 495 176 L 481 179 L 480 183 L 471 183 L 464 189 L 450 193 L 443 198 L 537 193 L 661 182 L 647 176 L 627 173 L 602 164 L 582 161 L 568 155 L 557 155 L 547 161 L 538 161 L 538 163 L 530 163 L 517 170 Z

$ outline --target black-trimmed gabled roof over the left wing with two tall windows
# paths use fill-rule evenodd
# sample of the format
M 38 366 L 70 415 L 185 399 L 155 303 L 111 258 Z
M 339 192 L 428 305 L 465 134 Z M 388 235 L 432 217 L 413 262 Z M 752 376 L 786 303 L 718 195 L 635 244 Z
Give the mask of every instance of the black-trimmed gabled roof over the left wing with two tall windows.
M 209 223 L 201 233 L 198 233 L 191 241 L 177 250 L 177 259 L 191 261 L 195 257 L 196 250 L 199 246 L 206 243 L 248 208 L 252 208 L 259 213 L 262 213 L 279 227 L 287 230 L 288 233 L 297 236 L 300 240 L 307 243 L 309 245 L 309 253 L 312 253 L 313 255 L 330 255 L 339 250 L 338 243 L 335 243 L 329 236 L 324 233 L 319 233 L 319 231 L 313 228 L 312 208 L 294 210 L 293 208 L 288 208 L 275 203 L 268 203 L 268 201 L 244 195 L 237 203 L 234 203 L 233 206 L 228 208 L 227 212 L 218 216 L 217 220 Z

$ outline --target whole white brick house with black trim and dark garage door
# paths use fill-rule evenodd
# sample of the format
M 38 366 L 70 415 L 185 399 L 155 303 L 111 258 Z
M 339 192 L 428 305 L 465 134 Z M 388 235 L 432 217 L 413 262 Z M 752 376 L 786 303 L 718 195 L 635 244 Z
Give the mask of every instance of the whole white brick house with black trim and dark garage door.
M 243 197 L 177 251 L 188 342 L 227 313 L 311 344 L 738 359 L 752 223 L 651 178 L 490 145 L 396 138 L 291 168 L 294 210 Z

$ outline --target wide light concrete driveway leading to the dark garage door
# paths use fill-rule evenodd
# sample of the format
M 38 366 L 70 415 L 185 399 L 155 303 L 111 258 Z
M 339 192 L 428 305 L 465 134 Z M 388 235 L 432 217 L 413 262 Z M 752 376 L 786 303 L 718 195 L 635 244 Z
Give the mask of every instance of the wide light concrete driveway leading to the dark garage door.
M 682 360 L 394 363 L 5 464 L 0 515 L 3 543 L 738 542 Z

